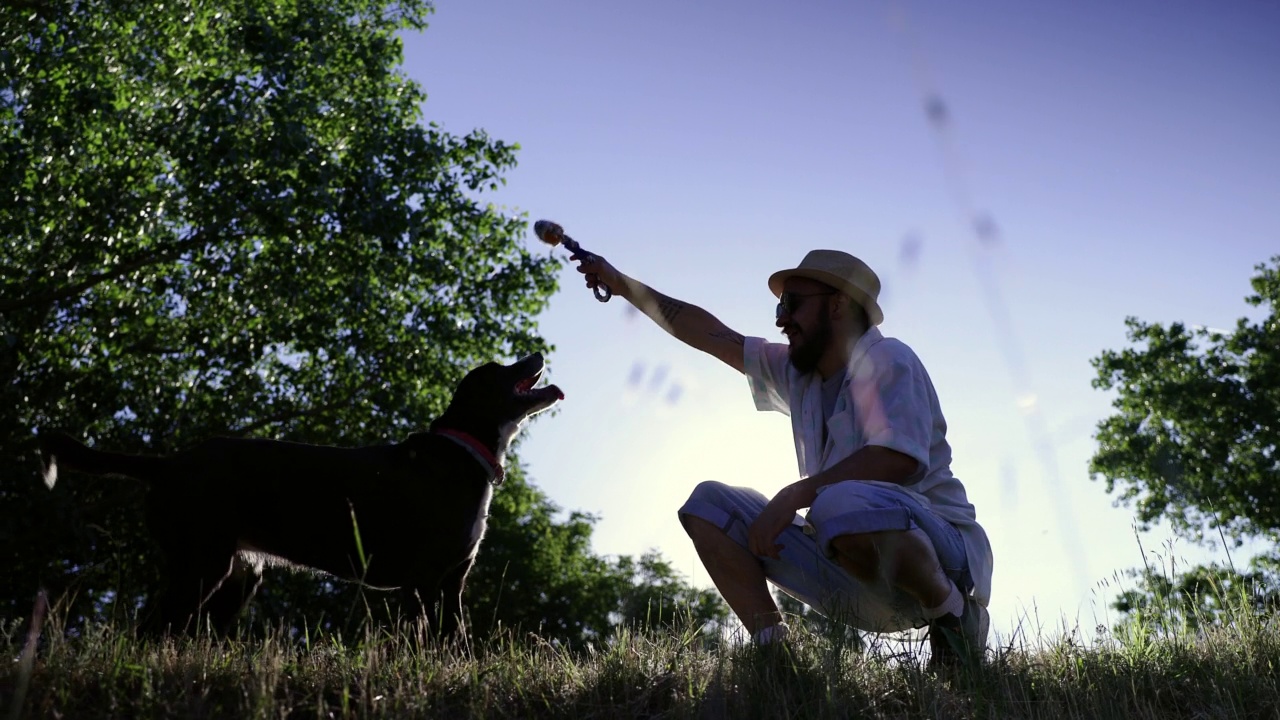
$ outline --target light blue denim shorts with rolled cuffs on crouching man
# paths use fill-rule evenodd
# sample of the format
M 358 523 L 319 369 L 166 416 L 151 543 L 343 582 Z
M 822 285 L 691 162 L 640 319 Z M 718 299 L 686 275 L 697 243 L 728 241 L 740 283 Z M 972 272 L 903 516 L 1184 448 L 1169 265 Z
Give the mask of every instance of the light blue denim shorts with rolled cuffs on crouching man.
M 748 529 L 768 502 L 759 491 L 708 480 L 694 488 L 680 509 L 680 521 L 684 524 L 687 515 L 701 518 L 748 547 Z M 809 509 L 810 527 L 805 524 L 805 518 L 796 515 L 778 537 L 778 544 L 785 546 L 781 559 L 760 561 L 771 583 L 828 618 L 870 632 L 927 623 L 914 597 L 883 580 L 863 583 L 837 565 L 831 539 L 840 536 L 919 528 L 960 592 L 973 588 L 960 532 L 905 491 L 858 480 L 833 483 L 818 493 Z

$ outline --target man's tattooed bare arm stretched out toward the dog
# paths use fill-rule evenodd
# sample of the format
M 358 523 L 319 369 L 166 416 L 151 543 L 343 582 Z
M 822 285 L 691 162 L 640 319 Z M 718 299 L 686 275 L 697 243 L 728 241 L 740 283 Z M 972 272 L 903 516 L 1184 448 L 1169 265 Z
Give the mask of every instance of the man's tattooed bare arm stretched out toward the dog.
M 572 259 L 580 260 L 577 255 Z M 600 283 L 608 284 L 614 295 L 635 305 L 637 310 L 658 323 L 658 327 L 675 336 L 676 340 L 718 357 L 739 373 L 744 372 L 742 336 L 726 327 L 707 310 L 666 296 L 643 282 L 620 273 L 599 255 L 581 261 L 577 272 L 586 275 L 586 287 L 594 290 Z

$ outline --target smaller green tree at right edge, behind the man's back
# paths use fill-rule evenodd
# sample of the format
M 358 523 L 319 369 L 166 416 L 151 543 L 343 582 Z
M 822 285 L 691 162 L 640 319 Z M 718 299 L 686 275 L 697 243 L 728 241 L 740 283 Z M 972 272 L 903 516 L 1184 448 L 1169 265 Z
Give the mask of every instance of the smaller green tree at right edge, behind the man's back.
M 1196 542 L 1280 539 L 1280 256 L 1256 270 L 1245 301 L 1262 310 L 1260 320 L 1242 318 L 1224 333 L 1128 318 L 1129 340 L 1144 347 L 1093 360 L 1093 386 L 1116 392 L 1117 413 L 1098 425 L 1089 471 L 1137 506 L 1143 528 L 1164 519 Z M 1193 569 L 1166 579 L 1167 587 L 1148 571 L 1137 592 L 1192 597 L 1220 570 Z M 1275 574 L 1256 569 L 1234 578 L 1257 584 Z

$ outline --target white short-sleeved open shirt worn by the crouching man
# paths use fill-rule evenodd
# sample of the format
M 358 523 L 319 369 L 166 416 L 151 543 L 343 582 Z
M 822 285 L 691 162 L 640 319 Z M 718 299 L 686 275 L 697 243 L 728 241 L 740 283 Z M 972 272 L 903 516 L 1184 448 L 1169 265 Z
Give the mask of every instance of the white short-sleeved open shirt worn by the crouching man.
M 801 374 L 791 365 L 786 345 L 759 337 L 745 341 L 744 370 L 756 410 L 776 410 L 791 416 L 801 478 L 815 475 L 869 445 L 915 459 L 919 468 L 905 484 L 865 482 L 909 492 L 954 524 L 964 538 L 974 598 L 982 605 L 989 602 L 991 542 L 978 524 L 964 486 L 951 474 L 947 423 L 933 380 L 906 343 L 886 338 L 878 328 L 859 338 L 835 411 L 827 420 L 826 443 L 818 373 Z M 799 411 L 794 411 L 796 409 Z

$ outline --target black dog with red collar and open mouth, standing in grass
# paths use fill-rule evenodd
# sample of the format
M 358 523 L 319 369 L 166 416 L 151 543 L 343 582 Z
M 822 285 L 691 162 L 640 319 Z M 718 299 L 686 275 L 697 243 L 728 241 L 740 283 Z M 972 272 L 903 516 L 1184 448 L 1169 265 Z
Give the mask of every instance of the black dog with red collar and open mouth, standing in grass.
M 54 486 L 59 465 L 147 482 L 147 525 L 165 555 L 166 587 L 148 602 L 146 632 L 192 632 L 201 614 L 225 630 L 264 561 L 283 561 L 401 588 L 448 637 L 462 625 L 462 587 L 507 446 L 526 418 L 564 397 L 556 386 L 534 389 L 541 372 L 539 354 L 481 365 L 430 432 L 396 445 L 214 438 L 154 457 L 42 433 L 45 483 Z

